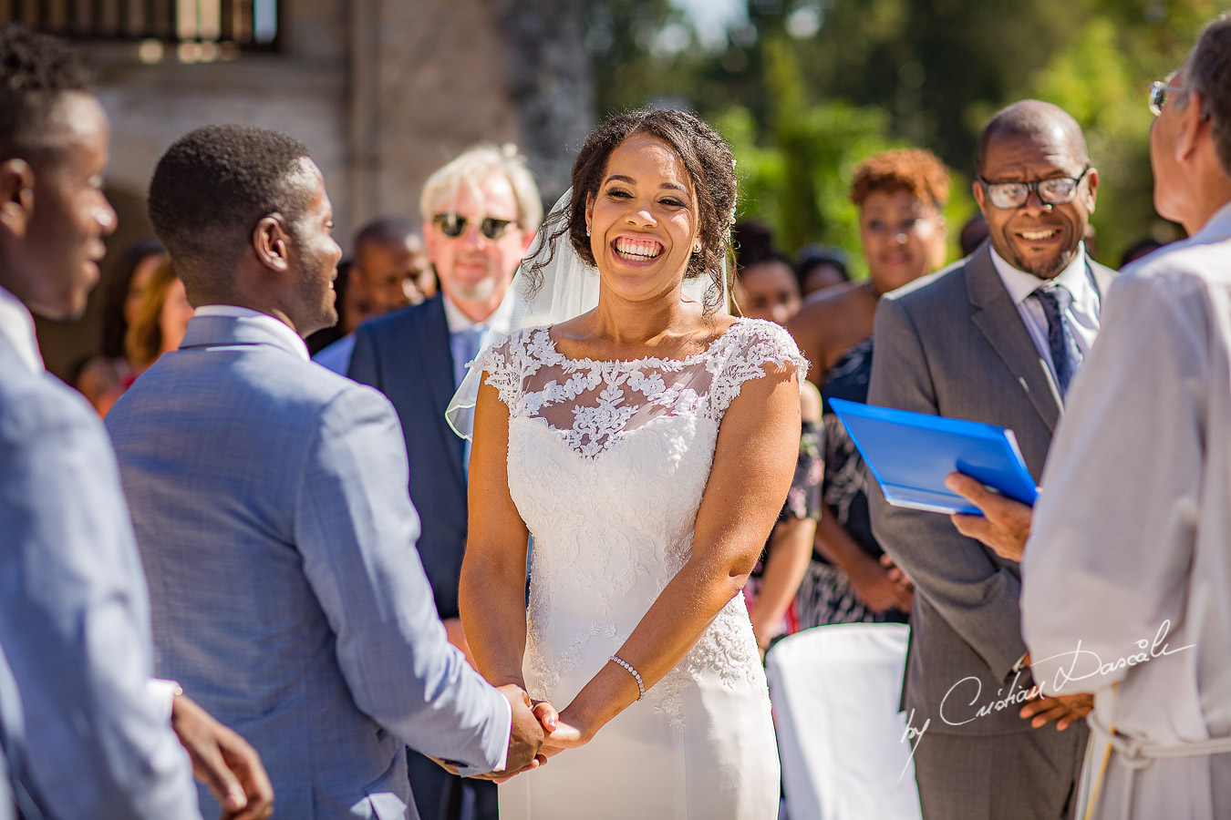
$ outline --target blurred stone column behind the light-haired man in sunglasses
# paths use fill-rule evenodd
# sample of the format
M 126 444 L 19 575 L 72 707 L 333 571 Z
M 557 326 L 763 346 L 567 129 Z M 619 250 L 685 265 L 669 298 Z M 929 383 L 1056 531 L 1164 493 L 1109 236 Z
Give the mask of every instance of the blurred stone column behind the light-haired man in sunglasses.
M 593 123 L 581 0 L 351 6 L 352 224 L 419 218 L 427 176 L 476 143 L 517 143 L 544 198 Z

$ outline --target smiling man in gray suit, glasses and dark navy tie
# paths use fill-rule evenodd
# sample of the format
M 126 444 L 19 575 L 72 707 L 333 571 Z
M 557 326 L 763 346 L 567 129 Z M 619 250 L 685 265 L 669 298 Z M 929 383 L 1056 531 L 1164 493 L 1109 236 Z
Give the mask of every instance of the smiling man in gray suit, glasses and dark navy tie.
M 974 184 L 990 243 L 881 300 L 868 403 L 1008 427 L 1038 481 L 1114 275 L 1082 245 L 1097 188 L 1072 117 L 1038 101 L 998 112 L 980 138 Z M 1089 700 L 1025 703 L 1033 680 L 1017 562 L 960 535 L 948 516 L 872 497 L 876 538 L 918 593 L 904 701 L 922 733 L 924 816 L 1071 811 L 1087 733 L 1056 729 Z

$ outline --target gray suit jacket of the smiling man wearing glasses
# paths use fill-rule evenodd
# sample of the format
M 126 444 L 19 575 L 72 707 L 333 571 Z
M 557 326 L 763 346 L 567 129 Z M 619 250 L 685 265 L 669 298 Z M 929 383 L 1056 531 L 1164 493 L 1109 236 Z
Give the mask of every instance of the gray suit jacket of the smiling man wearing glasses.
M 1115 272 L 1087 262 L 1105 293 Z M 875 339 L 869 404 L 1011 428 L 1039 479 L 1060 393 L 987 243 L 881 299 Z M 1018 564 L 961 536 L 947 515 L 889 507 L 869 483 L 873 532 L 916 584 L 904 692 L 911 724 L 931 719 L 938 734 L 1029 731 L 1018 704 L 977 716 L 1009 693 L 1025 654 Z M 1032 685 L 1024 672 L 1013 691 Z

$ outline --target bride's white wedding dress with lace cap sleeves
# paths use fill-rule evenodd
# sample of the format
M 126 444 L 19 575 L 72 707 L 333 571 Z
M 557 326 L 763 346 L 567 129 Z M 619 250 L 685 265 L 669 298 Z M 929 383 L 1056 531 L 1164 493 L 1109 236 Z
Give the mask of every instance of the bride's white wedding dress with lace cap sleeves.
M 692 552 L 728 406 L 764 365 L 806 364 L 777 325 L 737 320 L 687 359 L 560 354 L 547 328 L 475 363 L 508 407 L 508 487 L 532 535 L 524 674 L 558 709 L 619 649 Z M 500 787 L 502 820 L 772 820 L 778 750 L 742 594 L 581 749 Z

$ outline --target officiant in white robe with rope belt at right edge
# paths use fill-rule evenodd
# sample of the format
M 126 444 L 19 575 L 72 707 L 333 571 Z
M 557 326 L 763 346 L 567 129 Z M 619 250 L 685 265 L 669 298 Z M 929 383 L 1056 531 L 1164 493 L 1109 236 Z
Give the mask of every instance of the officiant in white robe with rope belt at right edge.
M 1229 57 L 1222 16 L 1155 89 L 1155 204 L 1192 239 L 1112 285 L 1022 561 L 1035 681 L 1096 693 L 1094 818 L 1231 818 Z

